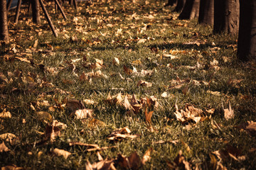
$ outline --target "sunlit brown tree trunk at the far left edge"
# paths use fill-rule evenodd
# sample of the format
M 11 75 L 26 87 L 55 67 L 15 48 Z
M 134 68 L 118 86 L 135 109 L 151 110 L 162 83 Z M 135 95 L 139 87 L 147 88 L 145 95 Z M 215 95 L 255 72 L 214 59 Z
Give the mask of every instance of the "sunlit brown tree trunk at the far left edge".
M 0 0 L 0 40 L 9 42 L 6 0 Z

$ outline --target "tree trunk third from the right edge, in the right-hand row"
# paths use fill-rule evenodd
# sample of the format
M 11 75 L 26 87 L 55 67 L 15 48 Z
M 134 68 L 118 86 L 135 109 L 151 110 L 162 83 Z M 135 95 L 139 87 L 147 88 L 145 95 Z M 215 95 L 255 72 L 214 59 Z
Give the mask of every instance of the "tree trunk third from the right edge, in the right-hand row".
M 213 26 L 214 0 L 201 0 L 198 22 Z

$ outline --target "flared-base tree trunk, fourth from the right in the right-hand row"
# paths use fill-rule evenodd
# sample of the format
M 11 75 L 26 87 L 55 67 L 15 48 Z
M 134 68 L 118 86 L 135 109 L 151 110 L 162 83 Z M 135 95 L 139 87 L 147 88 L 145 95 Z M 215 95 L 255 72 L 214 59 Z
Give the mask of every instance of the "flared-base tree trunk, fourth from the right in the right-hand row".
M 198 18 L 200 0 L 186 0 L 186 4 L 178 16 L 179 19 Z

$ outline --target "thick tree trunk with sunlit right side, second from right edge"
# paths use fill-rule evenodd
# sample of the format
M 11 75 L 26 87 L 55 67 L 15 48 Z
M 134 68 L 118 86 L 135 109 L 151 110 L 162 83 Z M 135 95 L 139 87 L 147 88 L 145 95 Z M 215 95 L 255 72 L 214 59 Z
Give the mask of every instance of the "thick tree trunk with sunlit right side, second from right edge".
M 239 0 L 215 0 L 213 33 L 238 34 L 239 11 Z

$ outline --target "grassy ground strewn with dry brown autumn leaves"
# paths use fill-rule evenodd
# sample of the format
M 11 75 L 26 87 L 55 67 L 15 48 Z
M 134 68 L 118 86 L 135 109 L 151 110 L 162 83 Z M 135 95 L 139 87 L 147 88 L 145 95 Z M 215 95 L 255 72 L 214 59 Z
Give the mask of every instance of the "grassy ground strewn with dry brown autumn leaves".
M 9 13 L 2 169 L 256 168 L 256 64 L 164 3 L 48 3 L 58 38 Z

